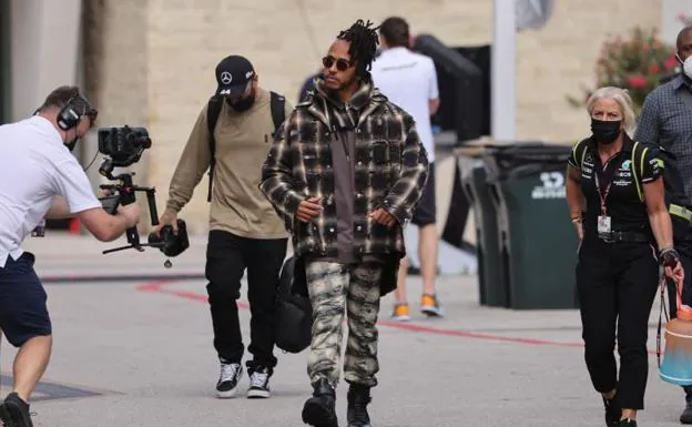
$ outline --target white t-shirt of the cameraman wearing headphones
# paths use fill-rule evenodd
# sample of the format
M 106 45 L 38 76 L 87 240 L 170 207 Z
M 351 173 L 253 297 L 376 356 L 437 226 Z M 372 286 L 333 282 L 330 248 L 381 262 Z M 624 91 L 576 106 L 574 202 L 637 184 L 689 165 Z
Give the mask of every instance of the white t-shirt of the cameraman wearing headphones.
M 44 118 L 0 125 L 0 267 L 19 258 L 21 244 L 43 220 L 53 197 L 70 212 L 101 207 L 86 174 Z

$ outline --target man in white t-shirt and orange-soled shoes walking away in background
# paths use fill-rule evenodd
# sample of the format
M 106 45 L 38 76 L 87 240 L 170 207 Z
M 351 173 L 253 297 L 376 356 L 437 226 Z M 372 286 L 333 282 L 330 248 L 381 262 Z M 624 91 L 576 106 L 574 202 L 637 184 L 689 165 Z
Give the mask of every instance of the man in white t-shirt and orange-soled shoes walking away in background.
M 409 26 L 403 18 L 391 17 L 379 27 L 381 54 L 373 62 L 375 85 L 395 104 L 413 115 L 416 130 L 428 154 L 428 181 L 411 223 L 418 226 L 418 256 L 423 275 L 420 311 L 429 316 L 441 316 L 442 308 L 435 292 L 437 271 L 437 206 L 435 203 L 435 143 L 430 116 L 439 108 L 439 92 L 435 63 L 426 55 L 413 52 Z M 408 257 L 401 260 L 398 274 L 396 304 L 391 317 L 410 319 L 406 296 Z

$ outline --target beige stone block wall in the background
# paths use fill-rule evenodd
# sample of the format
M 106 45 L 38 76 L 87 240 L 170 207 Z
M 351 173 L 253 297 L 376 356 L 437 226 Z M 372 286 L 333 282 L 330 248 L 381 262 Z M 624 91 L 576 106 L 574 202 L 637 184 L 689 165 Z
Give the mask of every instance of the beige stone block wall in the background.
M 415 32 L 432 33 L 451 45 L 488 43 L 492 32 L 490 0 L 95 3 L 105 3 L 109 10 L 104 49 L 93 59 L 109 64 L 101 65 L 95 82 L 100 105 L 113 120 L 146 118 L 154 139 L 147 181 L 159 190 L 160 207 L 191 126 L 214 90 L 213 69 L 221 58 L 247 55 L 261 84 L 295 100 L 333 38 L 356 19 L 379 22 L 396 13 L 407 18 Z M 588 132 L 584 113 L 571 109 L 566 95 L 579 94 L 580 84 L 592 84 L 594 60 L 607 33 L 635 24 L 658 26 L 660 17 L 660 0 L 556 1 L 546 28 L 518 35 L 517 138 L 570 142 Z M 134 88 L 145 93 L 134 94 Z M 193 233 L 206 230 L 205 196 L 206 179 L 182 215 Z

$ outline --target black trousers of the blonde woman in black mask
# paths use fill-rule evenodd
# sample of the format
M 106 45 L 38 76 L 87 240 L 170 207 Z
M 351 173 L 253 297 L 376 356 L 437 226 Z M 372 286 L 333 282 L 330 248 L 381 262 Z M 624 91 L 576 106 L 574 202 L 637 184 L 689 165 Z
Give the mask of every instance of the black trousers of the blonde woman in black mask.
M 649 314 L 659 285 L 654 250 L 647 243 L 604 243 L 586 235 L 576 273 L 591 383 L 600 393 L 617 388 L 622 408 L 643 409 Z

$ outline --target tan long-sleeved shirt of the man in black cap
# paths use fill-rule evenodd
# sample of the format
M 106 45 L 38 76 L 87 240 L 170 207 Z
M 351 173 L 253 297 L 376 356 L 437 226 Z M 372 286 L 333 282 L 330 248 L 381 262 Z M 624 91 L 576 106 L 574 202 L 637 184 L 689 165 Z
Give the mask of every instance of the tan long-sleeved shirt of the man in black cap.
M 293 105 L 286 101 L 286 116 L 292 111 Z M 171 180 L 166 211 L 180 212 L 208 170 L 211 152 L 206 116 L 205 105 Z M 210 230 L 222 230 L 250 238 L 288 236 L 282 218 L 258 189 L 262 164 L 272 143 L 272 132 L 274 122 L 269 92 L 257 88 L 255 103 L 243 113 L 223 103 L 214 131 L 216 165 Z

